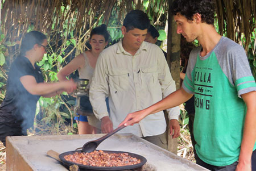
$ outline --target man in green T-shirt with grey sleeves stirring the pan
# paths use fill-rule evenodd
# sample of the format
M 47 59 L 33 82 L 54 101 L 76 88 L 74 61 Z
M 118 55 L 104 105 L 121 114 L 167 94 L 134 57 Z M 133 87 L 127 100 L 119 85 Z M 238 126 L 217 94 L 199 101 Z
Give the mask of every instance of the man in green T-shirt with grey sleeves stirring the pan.
M 177 34 L 200 47 L 191 51 L 182 87 L 121 123 L 180 105 L 195 94 L 197 164 L 210 170 L 256 170 L 256 84 L 244 49 L 214 28 L 215 1 L 176 0 Z M 131 119 L 131 120 L 129 120 Z

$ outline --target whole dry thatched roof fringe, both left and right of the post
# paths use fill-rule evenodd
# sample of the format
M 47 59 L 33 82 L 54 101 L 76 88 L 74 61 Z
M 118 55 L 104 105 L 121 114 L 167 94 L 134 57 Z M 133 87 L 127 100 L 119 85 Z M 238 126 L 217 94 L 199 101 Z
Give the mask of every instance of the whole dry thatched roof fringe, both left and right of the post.
M 6 40 L 15 41 L 34 26 L 35 30 L 51 34 L 56 43 L 58 34 L 68 36 L 69 31 L 84 37 L 98 19 L 108 23 L 112 10 L 118 12 L 119 22 L 131 9 L 143 10 L 143 0 L 6 0 L 1 12 L 2 32 Z M 149 0 L 153 9 L 154 22 L 167 15 L 168 0 Z M 226 31 L 230 39 L 242 43 L 246 38 L 245 49 L 250 43 L 251 32 L 255 31 L 256 0 L 216 0 L 218 26 L 221 34 Z M 146 12 L 150 8 L 147 8 Z M 144 9 L 145 10 L 145 9 Z M 96 19 L 97 17 L 97 19 Z M 67 28 L 64 28 L 67 23 Z M 52 30 L 53 28 L 53 30 Z M 224 30 L 224 31 L 223 31 Z M 244 35 L 244 36 L 243 36 Z

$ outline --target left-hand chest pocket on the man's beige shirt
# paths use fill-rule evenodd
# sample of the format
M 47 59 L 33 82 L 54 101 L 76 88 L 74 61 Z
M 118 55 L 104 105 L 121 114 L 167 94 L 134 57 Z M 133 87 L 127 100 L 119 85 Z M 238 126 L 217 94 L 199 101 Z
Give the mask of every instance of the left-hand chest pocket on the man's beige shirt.
M 126 69 L 111 69 L 109 71 L 109 86 L 115 90 L 127 90 L 129 87 L 129 72 Z

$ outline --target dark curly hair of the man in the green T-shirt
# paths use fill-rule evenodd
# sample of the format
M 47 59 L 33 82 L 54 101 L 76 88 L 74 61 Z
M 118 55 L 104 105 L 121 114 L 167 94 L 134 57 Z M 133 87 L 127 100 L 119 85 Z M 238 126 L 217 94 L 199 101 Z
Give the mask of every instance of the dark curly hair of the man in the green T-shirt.
M 179 12 L 188 20 L 193 20 L 193 15 L 201 15 L 202 22 L 214 24 L 216 4 L 213 0 L 176 0 L 171 5 L 172 14 Z

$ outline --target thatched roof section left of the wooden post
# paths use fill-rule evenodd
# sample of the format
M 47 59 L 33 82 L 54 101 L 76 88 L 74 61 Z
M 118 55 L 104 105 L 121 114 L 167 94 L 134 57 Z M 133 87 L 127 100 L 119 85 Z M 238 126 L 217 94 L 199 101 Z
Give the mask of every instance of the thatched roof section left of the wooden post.
M 151 0 L 150 3 L 152 2 Z M 167 2 L 162 0 L 160 4 L 155 3 L 155 5 L 167 7 Z M 126 12 L 133 7 L 142 9 L 142 2 L 138 0 L 7 0 L 3 3 L 2 9 L 1 21 L 4 26 L 2 32 L 11 36 L 13 41 L 15 37 L 26 33 L 31 24 L 35 26 L 35 30 L 44 33 L 63 32 L 64 23 L 68 23 L 68 31 L 86 31 L 92 28 L 93 24 L 97 25 L 94 23 L 98 22 L 96 16 L 98 19 L 104 18 L 103 23 L 108 23 L 110 14 L 115 9 L 119 19 L 122 20 Z

